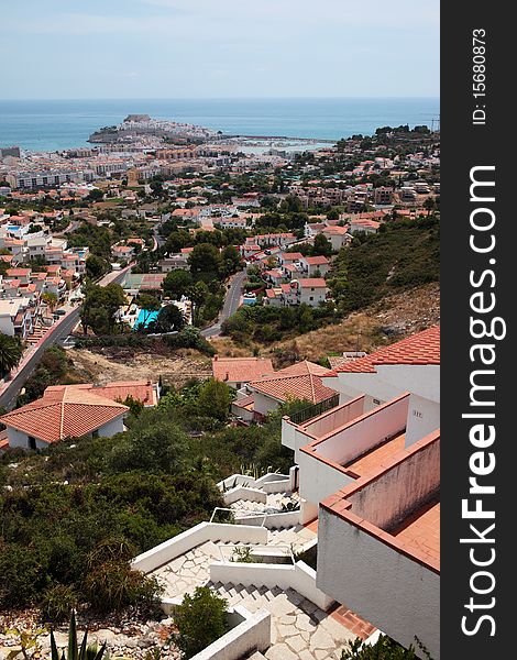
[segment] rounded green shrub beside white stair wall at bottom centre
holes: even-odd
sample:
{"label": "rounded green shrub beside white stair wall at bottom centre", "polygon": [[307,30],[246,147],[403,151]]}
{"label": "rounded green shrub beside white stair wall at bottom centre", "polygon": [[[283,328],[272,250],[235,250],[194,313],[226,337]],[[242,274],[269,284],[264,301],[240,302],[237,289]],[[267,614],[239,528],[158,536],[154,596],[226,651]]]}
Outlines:
{"label": "rounded green shrub beside white stair wall at bottom centre", "polygon": [[178,629],[174,642],[185,659],[202,651],[228,631],[227,612],[227,601],[208,586],[196,587],[194,595],[185,594],[174,610]]}

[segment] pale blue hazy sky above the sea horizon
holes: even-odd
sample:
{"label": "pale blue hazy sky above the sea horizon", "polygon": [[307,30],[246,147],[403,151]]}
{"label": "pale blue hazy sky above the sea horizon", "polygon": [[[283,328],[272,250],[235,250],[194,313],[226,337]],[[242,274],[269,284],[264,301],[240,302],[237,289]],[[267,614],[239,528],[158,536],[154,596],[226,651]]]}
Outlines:
{"label": "pale blue hazy sky above the sea horizon", "polygon": [[1,4],[3,99],[439,96],[439,0]]}

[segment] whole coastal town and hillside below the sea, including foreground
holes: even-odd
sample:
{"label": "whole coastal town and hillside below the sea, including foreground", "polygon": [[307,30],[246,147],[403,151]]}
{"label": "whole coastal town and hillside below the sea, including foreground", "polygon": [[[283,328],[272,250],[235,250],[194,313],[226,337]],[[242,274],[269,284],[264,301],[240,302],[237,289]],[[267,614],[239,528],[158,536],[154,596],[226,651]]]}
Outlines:
{"label": "whole coastal town and hillside below the sea, including foreground", "polygon": [[439,222],[427,125],[0,147],[0,658],[438,660]]}

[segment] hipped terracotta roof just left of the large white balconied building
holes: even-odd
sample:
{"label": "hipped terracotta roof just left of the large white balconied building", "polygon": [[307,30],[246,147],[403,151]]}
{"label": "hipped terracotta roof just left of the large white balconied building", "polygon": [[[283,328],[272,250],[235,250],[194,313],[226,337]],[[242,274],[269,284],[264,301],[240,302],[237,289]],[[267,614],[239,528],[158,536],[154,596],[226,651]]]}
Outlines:
{"label": "hipped terracotta roof just left of the large white balconied building", "polygon": [[336,391],[323,385],[319,377],[326,372],[324,367],[306,360],[260,381],[253,381],[250,386],[280,402],[297,398],[318,404],[336,394]]}

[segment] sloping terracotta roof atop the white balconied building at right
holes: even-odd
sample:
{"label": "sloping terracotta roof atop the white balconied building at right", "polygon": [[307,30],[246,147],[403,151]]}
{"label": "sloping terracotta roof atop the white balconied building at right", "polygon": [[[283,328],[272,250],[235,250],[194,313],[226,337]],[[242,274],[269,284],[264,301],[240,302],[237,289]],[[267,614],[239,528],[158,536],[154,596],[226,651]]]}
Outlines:
{"label": "sloping terracotta roof atop the white balconied building at right", "polygon": [[336,373],[375,373],[378,364],[440,364],[440,327],[433,326],[381,350],[338,366]]}

